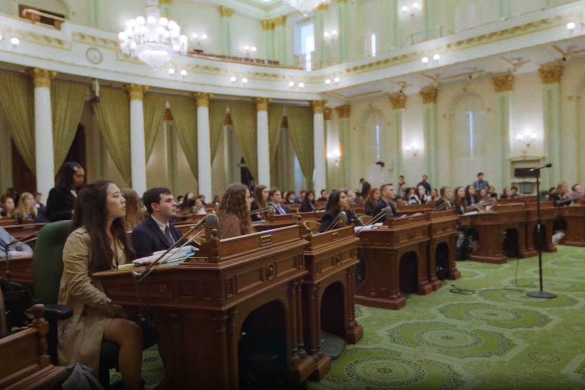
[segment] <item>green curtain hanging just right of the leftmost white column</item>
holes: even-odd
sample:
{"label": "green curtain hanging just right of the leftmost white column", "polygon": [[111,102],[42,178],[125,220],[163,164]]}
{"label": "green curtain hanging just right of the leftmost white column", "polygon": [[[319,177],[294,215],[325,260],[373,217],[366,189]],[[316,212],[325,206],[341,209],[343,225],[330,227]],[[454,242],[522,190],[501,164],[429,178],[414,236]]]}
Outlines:
{"label": "green curtain hanging just right of the leftmost white column", "polygon": [[56,172],[65,161],[77,133],[87,92],[87,84],[66,80],[54,80],[51,83],[53,157]]}

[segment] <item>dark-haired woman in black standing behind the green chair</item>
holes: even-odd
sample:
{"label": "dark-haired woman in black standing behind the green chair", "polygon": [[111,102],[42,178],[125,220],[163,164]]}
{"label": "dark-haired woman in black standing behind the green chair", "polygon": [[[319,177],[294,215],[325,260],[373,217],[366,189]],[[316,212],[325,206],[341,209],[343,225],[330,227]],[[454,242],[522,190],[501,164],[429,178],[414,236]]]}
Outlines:
{"label": "dark-haired woman in black standing behind the green chair", "polygon": [[46,216],[50,222],[73,218],[77,191],[85,180],[85,171],[78,163],[68,162],[61,168],[61,181],[51,188],[47,198]]}

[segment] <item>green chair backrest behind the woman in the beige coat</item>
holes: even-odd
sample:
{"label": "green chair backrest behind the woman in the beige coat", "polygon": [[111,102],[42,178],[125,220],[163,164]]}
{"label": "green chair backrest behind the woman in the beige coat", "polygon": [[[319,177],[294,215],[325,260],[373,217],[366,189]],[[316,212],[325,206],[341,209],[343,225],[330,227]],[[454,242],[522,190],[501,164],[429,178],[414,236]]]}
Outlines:
{"label": "green chair backrest behind the woman in the beige coat", "polygon": [[44,305],[55,305],[63,274],[63,247],[71,230],[71,221],[49,223],[39,231],[33,253],[35,295]]}

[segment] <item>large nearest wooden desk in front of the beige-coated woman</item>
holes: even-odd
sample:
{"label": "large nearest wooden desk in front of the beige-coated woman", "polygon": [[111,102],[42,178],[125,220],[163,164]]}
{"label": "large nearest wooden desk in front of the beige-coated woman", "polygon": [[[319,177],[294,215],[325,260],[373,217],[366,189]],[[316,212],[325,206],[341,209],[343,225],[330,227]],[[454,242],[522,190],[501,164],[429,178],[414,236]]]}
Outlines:
{"label": "large nearest wooden desk in front of the beige-coated woman", "polygon": [[[315,371],[304,350],[301,290],[308,241],[301,226],[202,244],[196,257],[166,264],[139,284],[159,333],[165,377],[159,389],[238,389],[249,370],[289,386]],[[114,302],[136,306],[132,270],[98,272]],[[259,360],[268,343],[278,356]],[[264,355],[262,355],[264,357]],[[255,364],[255,365],[254,365]]]}

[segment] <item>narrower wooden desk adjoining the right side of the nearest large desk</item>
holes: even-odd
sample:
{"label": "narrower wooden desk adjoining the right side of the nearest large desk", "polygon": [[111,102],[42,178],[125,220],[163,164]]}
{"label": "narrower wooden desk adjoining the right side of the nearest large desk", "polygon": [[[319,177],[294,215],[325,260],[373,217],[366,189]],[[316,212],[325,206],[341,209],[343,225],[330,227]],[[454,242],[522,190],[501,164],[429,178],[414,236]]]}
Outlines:
{"label": "narrower wooden desk adjoining the right side of the nearest large desk", "polygon": [[363,337],[354,303],[357,239],[353,225],[312,235],[306,233],[305,276],[302,291],[305,346],[316,361],[309,377],[321,381],[331,369],[331,358],[321,351],[321,330],[355,344]]}

